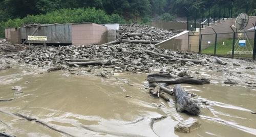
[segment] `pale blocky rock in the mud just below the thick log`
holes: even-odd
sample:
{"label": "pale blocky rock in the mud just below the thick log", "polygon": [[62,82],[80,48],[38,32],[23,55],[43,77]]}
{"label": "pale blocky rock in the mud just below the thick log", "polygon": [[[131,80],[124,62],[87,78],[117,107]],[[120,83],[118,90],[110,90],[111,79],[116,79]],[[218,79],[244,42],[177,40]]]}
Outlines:
{"label": "pale blocky rock in the mud just below the thick log", "polygon": [[201,123],[197,119],[189,118],[185,121],[178,123],[175,126],[175,131],[189,133],[191,131],[198,129],[200,126],[201,126]]}

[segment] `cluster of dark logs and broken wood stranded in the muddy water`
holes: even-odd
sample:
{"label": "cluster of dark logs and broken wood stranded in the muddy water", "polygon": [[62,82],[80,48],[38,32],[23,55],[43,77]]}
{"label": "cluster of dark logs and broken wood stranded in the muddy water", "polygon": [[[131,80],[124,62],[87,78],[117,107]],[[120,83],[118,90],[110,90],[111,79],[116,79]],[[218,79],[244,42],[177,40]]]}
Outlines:
{"label": "cluster of dark logs and broken wood stranded in the muddy water", "polygon": [[[174,95],[176,99],[177,112],[187,112],[191,115],[200,114],[200,106],[193,99],[191,99],[191,97],[180,84],[203,85],[210,83],[210,80],[208,79],[197,79],[193,77],[173,77],[168,73],[148,75],[147,81],[149,82],[150,87],[155,87],[155,89],[147,88],[150,89],[150,93],[152,95],[161,97],[166,101],[169,101],[170,96]],[[162,86],[161,83],[164,83],[165,85],[176,85],[172,91]]]}

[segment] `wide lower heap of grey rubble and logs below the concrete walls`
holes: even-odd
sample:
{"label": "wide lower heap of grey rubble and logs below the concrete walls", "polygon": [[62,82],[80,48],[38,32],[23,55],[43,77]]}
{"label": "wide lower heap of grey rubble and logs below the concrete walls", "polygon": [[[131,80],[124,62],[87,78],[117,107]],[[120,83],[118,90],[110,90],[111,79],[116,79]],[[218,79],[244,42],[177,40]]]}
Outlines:
{"label": "wide lower heap of grey rubble and logs below the concrete walls", "polygon": [[[103,67],[119,72],[143,71],[151,67],[174,64],[186,69],[188,66],[206,63],[208,56],[159,49],[152,44],[115,44],[108,46],[44,46],[4,55],[20,63],[44,66]],[[180,69],[180,70],[184,70]]]}

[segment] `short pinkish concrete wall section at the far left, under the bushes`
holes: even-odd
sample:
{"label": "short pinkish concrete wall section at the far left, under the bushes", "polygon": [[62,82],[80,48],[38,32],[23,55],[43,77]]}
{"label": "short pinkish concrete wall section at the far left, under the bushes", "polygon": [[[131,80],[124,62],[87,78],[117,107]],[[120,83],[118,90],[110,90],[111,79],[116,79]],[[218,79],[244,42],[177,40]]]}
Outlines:
{"label": "short pinkish concrete wall section at the far left, under the bushes", "polygon": [[6,28],[5,29],[5,38],[7,41],[18,44],[20,43],[20,30],[17,28]]}

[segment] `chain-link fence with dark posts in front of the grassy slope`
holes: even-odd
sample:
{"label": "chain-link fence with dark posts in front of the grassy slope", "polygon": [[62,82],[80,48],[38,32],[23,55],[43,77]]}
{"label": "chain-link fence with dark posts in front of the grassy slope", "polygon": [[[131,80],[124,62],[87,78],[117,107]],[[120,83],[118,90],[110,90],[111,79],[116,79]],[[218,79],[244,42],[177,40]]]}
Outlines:
{"label": "chain-link fence with dark posts in front of the grassy slope", "polygon": [[[198,52],[200,53],[228,58],[253,58],[254,31],[190,35],[189,40],[196,40],[196,37],[199,39],[196,44],[199,44]],[[195,45],[190,44],[190,49],[195,48]]]}

